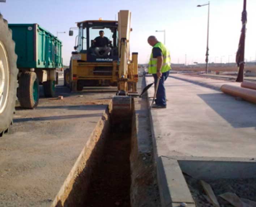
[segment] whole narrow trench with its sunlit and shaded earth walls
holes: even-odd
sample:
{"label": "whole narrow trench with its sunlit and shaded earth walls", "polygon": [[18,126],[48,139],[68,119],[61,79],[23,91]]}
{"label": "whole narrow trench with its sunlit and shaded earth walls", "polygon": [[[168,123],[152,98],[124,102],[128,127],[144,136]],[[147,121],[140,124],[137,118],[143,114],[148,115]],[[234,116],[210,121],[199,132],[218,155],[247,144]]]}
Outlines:
{"label": "whole narrow trench with its sunlit and shaded earth walls", "polygon": [[160,206],[152,147],[145,137],[143,148],[137,143],[148,124],[139,122],[137,132],[134,102],[123,114],[113,115],[112,105],[106,110],[51,207]]}

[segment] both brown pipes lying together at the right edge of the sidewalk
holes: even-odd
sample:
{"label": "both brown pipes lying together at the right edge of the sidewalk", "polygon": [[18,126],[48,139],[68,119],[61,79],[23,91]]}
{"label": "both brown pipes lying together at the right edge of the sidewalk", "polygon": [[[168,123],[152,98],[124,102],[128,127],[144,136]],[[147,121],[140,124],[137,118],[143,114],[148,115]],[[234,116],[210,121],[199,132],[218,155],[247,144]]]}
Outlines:
{"label": "both brown pipes lying together at the right edge of the sidewalk", "polygon": [[221,91],[232,96],[240,97],[248,102],[256,103],[256,83],[244,81],[241,87],[224,84]]}

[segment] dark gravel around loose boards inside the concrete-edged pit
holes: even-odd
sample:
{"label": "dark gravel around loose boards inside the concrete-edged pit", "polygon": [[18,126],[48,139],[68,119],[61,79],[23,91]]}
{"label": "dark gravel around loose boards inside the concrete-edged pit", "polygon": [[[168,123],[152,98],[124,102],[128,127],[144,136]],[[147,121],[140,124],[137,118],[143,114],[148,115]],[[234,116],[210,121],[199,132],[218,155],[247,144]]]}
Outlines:
{"label": "dark gravel around loose boards inside the concrete-edged pit", "polygon": [[[197,207],[214,207],[206,199],[206,193],[202,188],[199,180],[193,179],[190,176],[184,175],[191,195]],[[222,199],[219,195],[222,193],[235,193],[239,198],[246,198],[251,201],[256,201],[256,179],[218,179],[205,180],[213,189],[221,207],[234,207],[229,202]]]}

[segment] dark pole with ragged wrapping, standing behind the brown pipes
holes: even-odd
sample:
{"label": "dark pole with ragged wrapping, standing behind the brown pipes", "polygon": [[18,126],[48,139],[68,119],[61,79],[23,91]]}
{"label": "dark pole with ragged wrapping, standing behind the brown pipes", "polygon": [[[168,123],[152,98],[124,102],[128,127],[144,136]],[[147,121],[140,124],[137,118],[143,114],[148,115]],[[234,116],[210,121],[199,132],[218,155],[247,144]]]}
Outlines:
{"label": "dark pole with ragged wrapping, standing behind the brown pipes", "polygon": [[244,0],[243,12],[242,12],[242,31],[238,50],[236,53],[236,64],[239,67],[238,76],[236,82],[243,82],[244,79],[244,47],[245,47],[245,36],[246,36],[246,23],[247,23],[247,12],[246,12],[246,0]]}

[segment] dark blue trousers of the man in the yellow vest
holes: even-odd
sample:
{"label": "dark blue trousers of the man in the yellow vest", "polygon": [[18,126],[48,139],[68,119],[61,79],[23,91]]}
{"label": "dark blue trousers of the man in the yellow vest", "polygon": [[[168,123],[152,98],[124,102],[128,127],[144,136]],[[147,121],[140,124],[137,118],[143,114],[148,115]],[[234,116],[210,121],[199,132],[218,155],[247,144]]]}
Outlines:
{"label": "dark blue trousers of the man in the yellow vest", "polygon": [[[169,75],[169,71],[162,73],[162,77],[159,80],[157,98],[155,99],[155,104],[157,105],[166,105],[166,96],[165,96],[165,81]],[[154,84],[157,84],[157,74],[153,74]]]}

